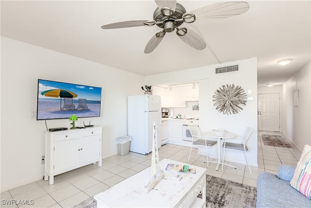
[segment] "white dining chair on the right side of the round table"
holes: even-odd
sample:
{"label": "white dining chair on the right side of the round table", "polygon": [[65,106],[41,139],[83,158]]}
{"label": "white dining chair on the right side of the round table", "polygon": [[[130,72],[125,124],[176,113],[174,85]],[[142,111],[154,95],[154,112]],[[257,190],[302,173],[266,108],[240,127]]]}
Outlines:
{"label": "white dining chair on the right side of the round table", "polygon": [[[247,160],[247,155],[246,155],[246,151],[248,151],[248,147],[246,146],[246,141],[249,138],[249,136],[252,133],[252,129],[247,127],[245,132],[243,133],[242,136],[238,136],[236,138],[241,138],[240,140],[237,139],[227,139],[225,140],[225,142],[223,143],[223,148],[224,148],[224,153],[223,153],[223,164],[222,164],[222,170],[224,169],[224,158],[225,158],[225,150],[235,150],[235,151],[244,151],[244,155],[245,155],[245,159],[246,159],[246,164],[249,168],[249,172],[252,174],[251,171],[251,167],[249,166],[248,160]],[[228,165],[227,166],[231,166],[233,168],[237,168],[235,166],[232,165]]]}

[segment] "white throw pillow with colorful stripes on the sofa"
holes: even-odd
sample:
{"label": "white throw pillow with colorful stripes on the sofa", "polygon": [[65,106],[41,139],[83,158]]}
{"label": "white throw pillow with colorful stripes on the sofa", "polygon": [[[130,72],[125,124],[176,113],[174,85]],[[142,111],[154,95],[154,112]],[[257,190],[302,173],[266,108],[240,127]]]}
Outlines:
{"label": "white throw pillow with colorful stripes on the sofa", "polygon": [[311,146],[305,145],[295,169],[291,186],[311,199]]}

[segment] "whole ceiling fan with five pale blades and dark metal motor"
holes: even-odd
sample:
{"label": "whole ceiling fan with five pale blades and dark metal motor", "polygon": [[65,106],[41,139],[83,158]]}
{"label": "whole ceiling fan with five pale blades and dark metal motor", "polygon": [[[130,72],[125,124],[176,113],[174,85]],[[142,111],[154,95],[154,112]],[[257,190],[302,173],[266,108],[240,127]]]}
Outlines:
{"label": "whole ceiling fan with five pale blades and dark metal motor", "polygon": [[206,43],[203,38],[189,28],[181,26],[183,23],[192,23],[198,20],[224,19],[241,15],[249,9],[249,5],[244,1],[231,1],[215,3],[186,12],[186,9],[176,0],[155,0],[157,8],[154,12],[154,20],[129,20],[105,24],[103,29],[116,29],[138,26],[158,26],[162,30],[148,41],[144,53],[149,54],[160,44],[166,33],[171,33],[176,29],[176,34],[189,46],[203,50]]}

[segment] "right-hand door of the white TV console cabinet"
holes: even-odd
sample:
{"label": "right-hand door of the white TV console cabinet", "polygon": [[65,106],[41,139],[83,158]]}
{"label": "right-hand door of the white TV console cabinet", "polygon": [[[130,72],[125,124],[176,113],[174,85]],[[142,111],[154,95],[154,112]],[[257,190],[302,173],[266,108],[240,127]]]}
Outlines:
{"label": "right-hand door of the white TV console cabinet", "polygon": [[81,165],[96,161],[100,157],[100,138],[88,137],[81,139]]}

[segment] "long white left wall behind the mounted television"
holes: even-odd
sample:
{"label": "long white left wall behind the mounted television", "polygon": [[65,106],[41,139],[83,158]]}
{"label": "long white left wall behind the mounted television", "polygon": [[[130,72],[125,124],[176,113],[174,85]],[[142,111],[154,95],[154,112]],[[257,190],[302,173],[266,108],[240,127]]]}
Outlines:
{"label": "long white left wall behind the mounted television", "polygon": [[[104,55],[103,55],[104,56]],[[83,121],[103,129],[103,158],[117,154],[115,138],[127,135],[127,95],[142,94],[144,77],[123,70],[1,37],[1,192],[44,174],[44,120],[36,111],[37,79],[102,87],[101,116]],[[70,127],[67,119],[47,120],[48,128]]]}

